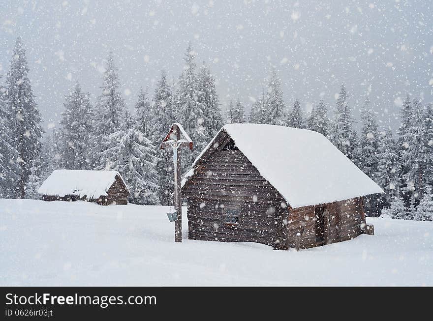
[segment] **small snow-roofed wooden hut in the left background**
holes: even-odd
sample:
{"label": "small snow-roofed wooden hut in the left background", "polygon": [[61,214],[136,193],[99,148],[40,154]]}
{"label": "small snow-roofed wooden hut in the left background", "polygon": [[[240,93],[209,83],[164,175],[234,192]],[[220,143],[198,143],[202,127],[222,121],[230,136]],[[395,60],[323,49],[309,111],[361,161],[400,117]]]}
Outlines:
{"label": "small snow-roofed wooden hut in the left background", "polygon": [[128,204],[129,190],[116,171],[56,170],[38,189],[44,201]]}

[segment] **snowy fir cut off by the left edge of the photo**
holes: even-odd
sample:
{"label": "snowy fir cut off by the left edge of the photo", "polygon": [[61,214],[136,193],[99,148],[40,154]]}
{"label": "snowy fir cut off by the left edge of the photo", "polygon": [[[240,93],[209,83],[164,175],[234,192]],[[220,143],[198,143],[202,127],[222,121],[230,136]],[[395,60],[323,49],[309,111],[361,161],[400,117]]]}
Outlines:
{"label": "snowy fir cut off by the left edge of the photo", "polygon": [[6,88],[0,86],[0,198],[16,195],[19,168],[16,160],[18,151],[14,147],[14,116],[10,113]]}

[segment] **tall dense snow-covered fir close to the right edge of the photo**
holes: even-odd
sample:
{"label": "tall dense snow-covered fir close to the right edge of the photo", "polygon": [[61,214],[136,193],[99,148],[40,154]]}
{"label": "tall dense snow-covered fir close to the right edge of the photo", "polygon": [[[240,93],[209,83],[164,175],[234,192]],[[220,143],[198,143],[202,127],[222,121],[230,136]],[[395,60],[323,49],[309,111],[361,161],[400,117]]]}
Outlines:
{"label": "tall dense snow-covered fir close to the right edge of the photo", "polygon": [[[425,129],[425,108],[418,99],[412,103],[412,114],[409,116],[410,127],[406,131],[404,141],[404,155],[401,160],[405,169],[403,179],[405,186],[403,192],[408,196],[420,199],[423,195],[423,186],[431,177],[426,176],[427,172],[427,137]],[[407,144],[407,146],[406,146]]]}

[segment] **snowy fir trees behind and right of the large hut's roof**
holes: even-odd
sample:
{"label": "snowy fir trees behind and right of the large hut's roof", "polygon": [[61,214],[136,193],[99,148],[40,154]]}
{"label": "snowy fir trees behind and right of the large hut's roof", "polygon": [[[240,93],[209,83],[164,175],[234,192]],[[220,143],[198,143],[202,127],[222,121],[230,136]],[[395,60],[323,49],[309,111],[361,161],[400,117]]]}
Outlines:
{"label": "snowy fir trees behind and right of the large hut's roof", "polygon": [[[354,108],[347,99],[347,90],[341,85],[333,117],[328,116],[329,108],[323,100],[306,116],[298,100],[287,111],[278,75],[273,71],[268,90],[263,90],[261,98],[251,107],[248,122],[309,129],[327,137],[384,190],[383,195],[366,197],[368,215],[383,213],[397,219],[432,221],[433,104],[423,105],[420,99],[407,95],[394,139],[391,128],[379,129],[368,96],[360,107],[358,133],[352,117]],[[233,123],[246,121],[239,100],[236,104],[229,103],[228,119]]]}

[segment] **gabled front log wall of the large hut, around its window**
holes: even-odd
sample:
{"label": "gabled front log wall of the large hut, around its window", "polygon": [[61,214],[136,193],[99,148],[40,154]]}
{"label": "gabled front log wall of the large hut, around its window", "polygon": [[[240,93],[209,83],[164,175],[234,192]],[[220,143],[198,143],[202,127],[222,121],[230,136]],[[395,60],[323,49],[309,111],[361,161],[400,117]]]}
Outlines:
{"label": "gabled front log wall of the large hut, around its window", "polygon": [[[284,200],[238,149],[213,153],[196,169],[183,195],[188,205],[188,238],[286,247]],[[242,207],[239,225],[222,221],[221,206],[230,205]]]}

